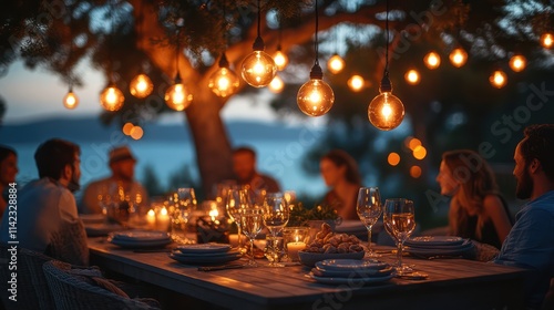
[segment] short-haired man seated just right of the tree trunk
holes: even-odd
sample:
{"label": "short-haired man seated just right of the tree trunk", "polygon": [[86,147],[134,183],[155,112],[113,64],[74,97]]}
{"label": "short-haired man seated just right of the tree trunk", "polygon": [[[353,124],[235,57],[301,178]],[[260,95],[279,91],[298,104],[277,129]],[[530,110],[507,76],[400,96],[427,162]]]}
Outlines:
{"label": "short-haired man seated just right of the tree trunk", "polygon": [[233,151],[233,172],[239,185],[249,185],[255,192],[260,189],[265,189],[267,193],[280,192],[277,180],[258,173],[256,152],[249,147],[238,147]]}

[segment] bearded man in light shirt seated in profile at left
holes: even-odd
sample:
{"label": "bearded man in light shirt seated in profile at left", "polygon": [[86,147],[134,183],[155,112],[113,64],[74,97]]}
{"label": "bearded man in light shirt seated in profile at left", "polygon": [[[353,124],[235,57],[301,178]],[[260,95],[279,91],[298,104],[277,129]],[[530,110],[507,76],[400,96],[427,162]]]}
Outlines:
{"label": "bearded man in light shirt seated in profile at left", "polygon": [[0,241],[17,240],[21,248],[86,266],[86,232],[72,194],[79,189],[81,177],[80,148],[71,142],[49,140],[39,146],[34,161],[40,179],[30,182],[18,193],[17,223],[6,209]]}

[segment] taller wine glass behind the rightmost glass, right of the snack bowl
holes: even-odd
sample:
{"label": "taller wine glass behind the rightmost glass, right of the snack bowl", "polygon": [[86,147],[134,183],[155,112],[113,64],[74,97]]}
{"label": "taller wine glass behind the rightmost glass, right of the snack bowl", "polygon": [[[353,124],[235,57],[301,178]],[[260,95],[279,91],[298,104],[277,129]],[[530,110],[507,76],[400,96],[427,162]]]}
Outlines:
{"label": "taller wine glass behind the rightmost glass, right of the snack bowl", "polygon": [[368,229],[368,251],[366,257],[380,257],[380,255],[371,250],[371,228],[382,214],[381,195],[378,187],[360,187],[356,211]]}

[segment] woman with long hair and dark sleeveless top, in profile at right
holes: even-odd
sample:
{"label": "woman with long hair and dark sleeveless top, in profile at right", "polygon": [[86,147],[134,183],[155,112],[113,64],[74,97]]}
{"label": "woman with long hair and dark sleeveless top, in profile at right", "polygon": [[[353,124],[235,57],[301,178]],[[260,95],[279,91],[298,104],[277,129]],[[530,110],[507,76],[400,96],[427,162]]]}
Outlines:
{"label": "woman with long hair and dark sleeveless top, in profile at right", "polygon": [[502,247],[513,220],[490,165],[475,152],[445,152],[437,176],[441,194],[452,196],[450,235]]}

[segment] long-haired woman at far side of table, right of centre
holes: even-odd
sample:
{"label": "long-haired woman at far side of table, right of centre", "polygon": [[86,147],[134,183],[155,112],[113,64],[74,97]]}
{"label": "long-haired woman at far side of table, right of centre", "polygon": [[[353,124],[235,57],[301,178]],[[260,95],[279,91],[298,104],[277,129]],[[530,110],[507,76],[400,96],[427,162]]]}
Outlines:
{"label": "long-haired woman at far side of table, right of centre", "polygon": [[342,219],[359,219],[356,213],[361,177],[356,161],[341,149],[332,149],[319,162],[321,176],[331,187],[324,204],[332,206]]}

